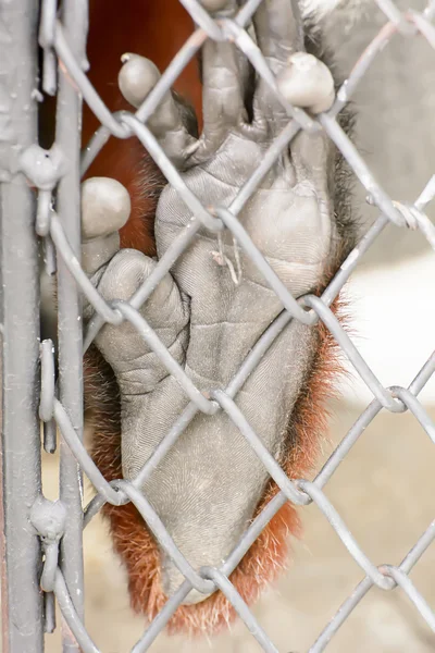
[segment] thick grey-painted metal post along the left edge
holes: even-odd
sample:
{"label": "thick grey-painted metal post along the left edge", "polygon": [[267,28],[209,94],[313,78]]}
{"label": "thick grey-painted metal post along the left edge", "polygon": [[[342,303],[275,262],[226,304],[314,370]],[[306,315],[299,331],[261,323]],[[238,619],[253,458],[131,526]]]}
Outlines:
{"label": "thick grey-painted metal post along the left edge", "polygon": [[34,194],[18,172],[37,133],[37,0],[0,1],[3,653],[44,650],[40,545],[29,521],[41,489],[38,252]]}

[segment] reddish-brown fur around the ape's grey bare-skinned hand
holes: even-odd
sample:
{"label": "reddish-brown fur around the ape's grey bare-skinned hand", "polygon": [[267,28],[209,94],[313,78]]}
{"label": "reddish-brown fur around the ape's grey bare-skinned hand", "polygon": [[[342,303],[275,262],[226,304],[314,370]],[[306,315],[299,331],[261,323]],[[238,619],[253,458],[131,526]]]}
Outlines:
{"label": "reddish-brown fur around the ape's grey bare-skinned hand", "polygon": [[[92,64],[90,78],[113,109],[123,107],[115,84],[122,52],[133,51],[150,57],[162,69],[191,32],[189,16],[174,0],[159,0],[159,3],[132,0],[132,3],[134,7],[129,7],[128,11],[120,11],[117,3],[91,1],[88,46]],[[174,12],[178,13],[175,15]],[[111,29],[111,26],[115,28]],[[167,35],[167,38],[162,40],[162,34]],[[101,47],[103,35],[110,35],[109,49]],[[200,84],[195,63],[186,70],[176,90],[190,100],[199,115]],[[85,141],[97,126],[90,112],[85,112]],[[112,139],[92,164],[88,176],[112,176],[127,187],[133,210],[130,220],[121,232],[122,247],[134,247],[153,255],[153,215],[158,199],[156,189],[161,188],[162,181],[154,167],[149,165],[144,158],[144,149],[135,139]],[[144,170],[149,174],[145,175]],[[339,315],[338,301],[334,308]],[[291,415],[286,455],[282,460],[290,478],[306,477],[312,468],[319,442],[326,432],[325,402],[334,393],[333,382],[340,373],[335,341],[322,324],[318,326],[316,335],[319,346]],[[103,476],[111,481],[122,477],[120,397],[113,372],[96,349],[85,360],[85,383],[88,418],[95,429],[94,459]],[[277,490],[274,482],[269,484],[257,513]],[[156,542],[133,505],[105,505],[103,514],[110,521],[114,549],[128,572],[132,606],[151,619],[166,600],[160,586]],[[295,507],[286,503],[231,577],[247,603],[254,602],[264,586],[286,566],[289,533],[298,535],[300,523]],[[179,607],[171,619],[169,629],[189,634],[213,633],[235,616],[235,611],[225,596],[216,592],[202,603]]]}

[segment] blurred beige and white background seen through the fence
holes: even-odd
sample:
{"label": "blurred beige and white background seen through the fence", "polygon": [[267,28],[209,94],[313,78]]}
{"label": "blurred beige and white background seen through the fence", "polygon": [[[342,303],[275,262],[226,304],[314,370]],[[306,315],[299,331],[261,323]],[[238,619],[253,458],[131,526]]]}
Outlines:
{"label": "blurred beige and white background seen through the fence", "polygon": [[[343,4],[343,3],[341,3]],[[346,75],[385,23],[374,2],[353,0],[326,20],[327,42]],[[399,0],[405,10],[423,2]],[[120,51],[120,54],[122,51]],[[92,60],[91,60],[92,61]],[[372,172],[397,200],[413,201],[435,174],[435,52],[423,38],[396,36],[375,60],[353,97],[357,145]],[[376,218],[356,185],[362,231]],[[427,213],[434,218],[434,207]],[[384,385],[407,386],[434,348],[435,255],[419,232],[387,227],[352,275],[347,295],[352,340]],[[352,373],[333,403],[323,459],[347,433],[372,396]],[[435,381],[421,397],[435,419]],[[322,460],[319,461],[319,468]],[[398,564],[434,519],[435,449],[412,415],[381,412],[340,465],[326,494],[375,564]],[[45,489],[57,495],[57,459],[45,457]],[[88,496],[90,490],[88,489]],[[283,653],[304,653],[363,578],[315,506],[302,509],[304,537],[291,542],[288,574],[254,613]],[[97,517],[85,532],[86,626],[104,653],[129,651],[145,623],[128,607],[123,569]],[[435,608],[435,547],[411,579]],[[156,653],[178,650],[254,653],[260,648],[236,624],[215,639],[189,642],[161,636]],[[61,650],[59,632],[47,651]],[[330,653],[428,653],[435,634],[398,589],[372,590],[333,639]]]}

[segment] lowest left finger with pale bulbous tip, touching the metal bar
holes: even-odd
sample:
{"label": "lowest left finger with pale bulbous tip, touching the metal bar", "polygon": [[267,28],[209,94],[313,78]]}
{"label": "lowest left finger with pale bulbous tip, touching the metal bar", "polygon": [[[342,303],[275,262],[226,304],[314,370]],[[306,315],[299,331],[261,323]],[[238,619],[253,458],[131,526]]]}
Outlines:
{"label": "lowest left finger with pale bulbous tip, touching the metal bar", "polygon": [[82,264],[92,275],[120,249],[119,230],[130,213],[127,189],[109,177],[82,184]]}

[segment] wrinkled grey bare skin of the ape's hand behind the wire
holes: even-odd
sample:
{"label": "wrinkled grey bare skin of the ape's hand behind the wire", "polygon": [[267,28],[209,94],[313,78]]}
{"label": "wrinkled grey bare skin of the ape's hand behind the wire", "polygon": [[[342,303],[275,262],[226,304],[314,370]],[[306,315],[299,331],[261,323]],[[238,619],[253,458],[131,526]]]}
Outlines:
{"label": "wrinkled grey bare skin of the ape's hand behind the wire", "polygon": [[[287,0],[266,1],[257,12],[257,41],[275,74],[285,69],[289,54],[302,49],[297,25]],[[247,66],[232,45],[208,42],[202,69],[204,126],[200,138],[187,132],[171,98],[166,98],[164,110],[154,114],[150,127],[201,202],[227,207],[288,118],[262,82],[257,83],[252,106],[246,110]],[[250,122],[248,115],[252,116]],[[332,161],[332,148],[324,135],[298,135],[238,215],[296,298],[314,291],[336,258]],[[85,222],[91,217],[92,211],[84,211]],[[156,215],[158,258],[190,220],[177,192],[167,185]],[[103,221],[100,232],[98,223],[92,229],[84,224],[85,234],[92,236],[84,243],[84,264],[107,300],[128,299],[156,266],[156,260],[139,251],[117,251],[116,229],[121,226],[122,219],[108,234]],[[239,280],[234,279],[228,264],[220,264],[223,261],[216,255],[216,234],[201,229],[140,309],[203,392],[228,384],[259,337],[283,311],[261,273],[234,245],[231,233],[225,231],[222,238],[225,257],[236,272],[240,267]],[[235,399],[277,459],[315,344],[312,329],[293,321]],[[105,325],[96,345],[120,386],[123,475],[134,479],[189,399],[129,323]],[[227,415],[220,411],[194,418],[144,492],[182,553],[198,569],[225,559],[249,525],[268,480],[263,464]],[[184,578],[163,552],[161,558],[163,590],[171,594]],[[202,599],[202,594],[191,591],[186,603]]]}

